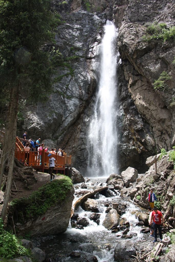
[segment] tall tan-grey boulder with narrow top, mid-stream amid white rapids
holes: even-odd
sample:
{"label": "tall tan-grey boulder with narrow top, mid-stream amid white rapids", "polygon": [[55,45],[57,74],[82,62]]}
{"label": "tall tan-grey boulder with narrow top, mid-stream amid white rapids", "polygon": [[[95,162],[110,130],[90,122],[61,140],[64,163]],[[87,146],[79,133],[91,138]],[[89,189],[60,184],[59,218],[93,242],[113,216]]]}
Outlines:
{"label": "tall tan-grey boulder with narrow top, mid-stream amid white rapids", "polygon": [[117,227],[119,225],[119,219],[120,219],[120,215],[117,213],[115,209],[112,208],[106,214],[106,217],[103,221],[103,226],[107,228],[107,230],[110,230],[115,226]]}

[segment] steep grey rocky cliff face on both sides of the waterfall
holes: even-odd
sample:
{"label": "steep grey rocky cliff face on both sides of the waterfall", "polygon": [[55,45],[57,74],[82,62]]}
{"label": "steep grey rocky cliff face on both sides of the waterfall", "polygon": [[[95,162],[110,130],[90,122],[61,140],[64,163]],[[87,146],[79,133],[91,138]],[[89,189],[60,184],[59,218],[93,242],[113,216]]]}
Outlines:
{"label": "steep grey rocky cliff face on both sides of the waterfall", "polygon": [[[72,155],[72,166],[85,175],[103,25],[107,19],[113,19],[119,27],[121,58],[117,69],[118,165],[120,170],[128,166],[144,169],[146,158],[154,155],[155,150],[171,149],[175,143],[172,105],[175,47],[173,43],[146,43],[142,39],[148,23],[174,24],[173,1],[91,0],[87,3],[73,0],[64,6],[54,1],[53,8],[61,12],[65,21],[58,27],[56,46],[64,59],[69,59],[70,67],[56,68],[54,77],[62,77],[54,84],[54,94],[46,104],[39,103],[25,115],[23,128],[29,136],[45,139],[49,146],[64,148]],[[72,60],[73,56],[78,58]],[[152,83],[163,70],[172,76],[169,90],[155,91]]]}

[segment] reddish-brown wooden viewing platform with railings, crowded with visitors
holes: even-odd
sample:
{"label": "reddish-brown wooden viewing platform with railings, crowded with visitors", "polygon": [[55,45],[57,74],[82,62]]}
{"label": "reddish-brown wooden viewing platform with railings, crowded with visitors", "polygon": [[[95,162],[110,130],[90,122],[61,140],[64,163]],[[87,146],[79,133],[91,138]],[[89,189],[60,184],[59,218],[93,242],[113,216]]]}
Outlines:
{"label": "reddish-brown wooden viewing platform with railings, crowded with visitors", "polygon": [[[3,143],[4,132],[0,130],[0,141]],[[15,147],[15,158],[17,158],[20,162],[24,163],[26,166],[32,166],[34,169],[40,169],[42,172],[49,170],[49,157],[50,153],[46,152],[44,149],[42,151],[23,151],[24,146],[20,140],[24,140],[22,138],[16,137],[16,147]],[[28,140],[24,140],[27,141]],[[40,165],[40,156],[41,152],[41,165]],[[63,156],[58,156],[57,154],[52,154],[57,161],[54,170],[58,173],[65,174],[65,167],[67,167],[67,175],[68,168],[71,166],[71,155],[67,156],[64,154]]]}

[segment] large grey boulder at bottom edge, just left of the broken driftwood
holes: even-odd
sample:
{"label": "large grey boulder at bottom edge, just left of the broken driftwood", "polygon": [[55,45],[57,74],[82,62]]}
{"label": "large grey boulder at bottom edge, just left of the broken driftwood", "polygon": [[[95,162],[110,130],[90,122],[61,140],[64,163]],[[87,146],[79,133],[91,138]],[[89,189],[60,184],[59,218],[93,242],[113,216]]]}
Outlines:
{"label": "large grey boulder at bottom edge, just left of the broken driftwood", "polygon": [[130,240],[119,240],[114,249],[115,261],[126,261],[129,258],[132,258],[132,255],[136,256],[134,243],[132,243]]}

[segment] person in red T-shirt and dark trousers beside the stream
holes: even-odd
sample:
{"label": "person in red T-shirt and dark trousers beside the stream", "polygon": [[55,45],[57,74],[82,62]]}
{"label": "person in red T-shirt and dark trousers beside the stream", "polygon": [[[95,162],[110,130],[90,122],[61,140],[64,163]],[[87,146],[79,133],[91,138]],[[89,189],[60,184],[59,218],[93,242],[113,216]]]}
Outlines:
{"label": "person in red T-shirt and dark trousers beside the stream", "polygon": [[157,242],[157,229],[158,229],[158,232],[159,232],[160,241],[162,241],[162,227],[161,227],[161,225],[162,225],[162,222],[163,222],[163,226],[165,226],[165,223],[164,223],[164,218],[163,218],[162,213],[159,210],[157,210],[156,206],[153,208],[153,211],[152,211],[150,226],[151,226],[152,219],[154,219],[153,220],[153,226],[154,226],[154,241],[153,242]]}

